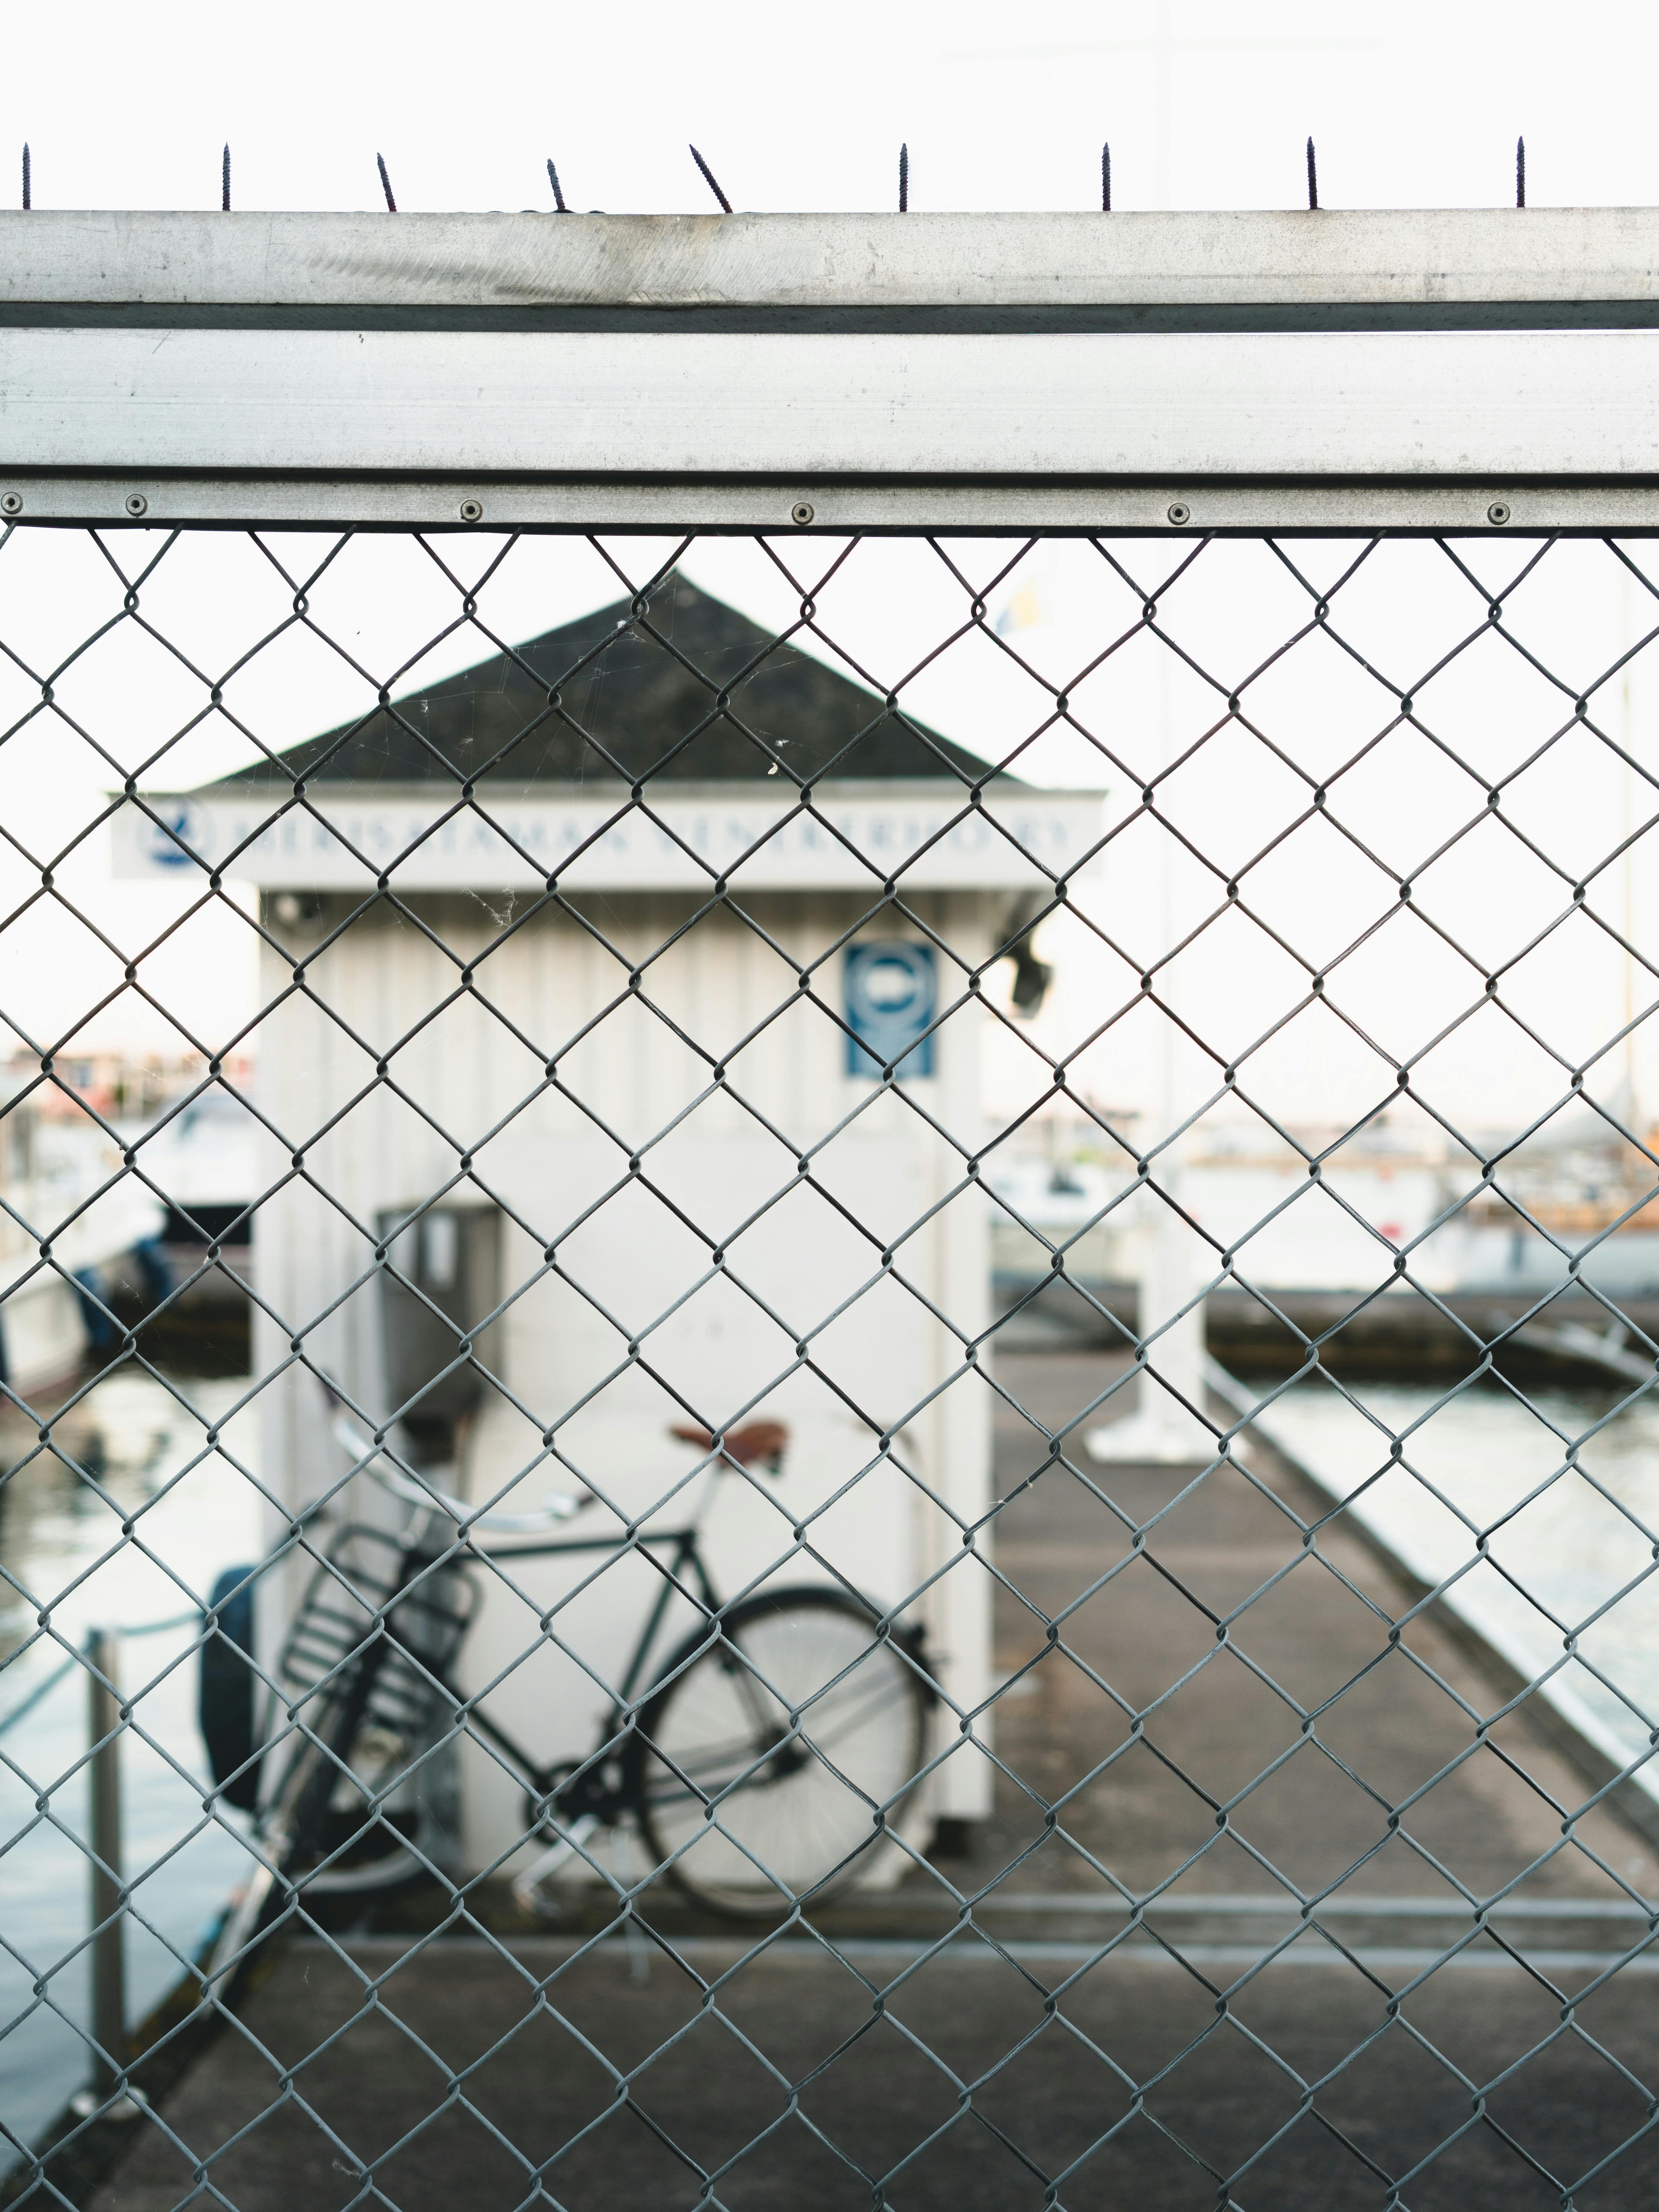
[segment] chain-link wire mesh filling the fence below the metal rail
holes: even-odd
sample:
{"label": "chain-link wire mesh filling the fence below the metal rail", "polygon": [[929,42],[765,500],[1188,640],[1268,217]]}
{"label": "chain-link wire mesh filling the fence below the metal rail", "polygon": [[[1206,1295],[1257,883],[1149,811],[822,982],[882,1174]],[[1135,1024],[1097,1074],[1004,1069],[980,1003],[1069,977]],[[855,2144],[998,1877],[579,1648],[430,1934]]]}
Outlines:
{"label": "chain-link wire mesh filling the fence below the metal rail", "polygon": [[11,2201],[1646,2201],[1655,593],[11,529]]}

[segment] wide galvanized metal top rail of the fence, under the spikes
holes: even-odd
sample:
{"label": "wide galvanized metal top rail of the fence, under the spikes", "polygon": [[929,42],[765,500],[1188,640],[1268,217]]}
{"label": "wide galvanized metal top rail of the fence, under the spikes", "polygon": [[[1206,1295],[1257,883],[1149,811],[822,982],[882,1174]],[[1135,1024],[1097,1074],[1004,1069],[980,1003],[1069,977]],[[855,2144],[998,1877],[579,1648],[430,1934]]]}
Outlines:
{"label": "wide galvanized metal top rail of the fence, under the spikes", "polygon": [[1657,239],[1650,210],[1522,208],[11,212],[0,502],[60,522],[1635,531],[1659,522]]}

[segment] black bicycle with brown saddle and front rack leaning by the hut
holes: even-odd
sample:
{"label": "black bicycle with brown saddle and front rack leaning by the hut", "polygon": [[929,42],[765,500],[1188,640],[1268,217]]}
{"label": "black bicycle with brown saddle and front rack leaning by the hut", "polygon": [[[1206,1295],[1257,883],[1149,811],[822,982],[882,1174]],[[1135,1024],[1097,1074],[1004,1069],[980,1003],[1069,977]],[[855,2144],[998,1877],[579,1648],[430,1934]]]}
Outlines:
{"label": "black bicycle with brown saddle and front rack leaning by the hut", "polygon": [[[684,1524],[551,1542],[522,1540],[586,1511],[593,1493],[549,1498],[533,1513],[473,1513],[392,1464],[343,1413],[334,1433],[411,1517],[400,1533],[345,1524],[294,1615],[276,1679],[294,1692],[285,1721],[296,1743],[257,1814],[261,1865],[226,1918],[215,1975],[234,1975],[288,1898],[387,1887],[422,1865],[414,1816],[396,1801],[462,1714],[524,1781],[526,1840],[544,1843],[513,1885],[526,1909],[553,1909],[546,1885],[602,1827],[630,1825],[684,1896],[737,1920],[821,1905],[858,1878],[927,1763],[938,1692],[922,1630],[883,1621],[832,1584],[732,1606],[719,1597],[699,1544],[714,1484],[757,1464],[776,1475],[787,1444],[779,1422],[726,1438],[670,1431],[710,1453]],[[478,1606],[467,1564],[482,1548],[476,1531],[518,1540],[487,1553],[502,1562],[622,1555],[633,1542],[661,1573],[584,1759],[540,1763],[456,1688]],[[697,1606],[699,1626],[641,1690],[677,1595]],[[215,1759],[232,1803],[234,1790],[250,1794],[259,1756],[230,1774]]]}

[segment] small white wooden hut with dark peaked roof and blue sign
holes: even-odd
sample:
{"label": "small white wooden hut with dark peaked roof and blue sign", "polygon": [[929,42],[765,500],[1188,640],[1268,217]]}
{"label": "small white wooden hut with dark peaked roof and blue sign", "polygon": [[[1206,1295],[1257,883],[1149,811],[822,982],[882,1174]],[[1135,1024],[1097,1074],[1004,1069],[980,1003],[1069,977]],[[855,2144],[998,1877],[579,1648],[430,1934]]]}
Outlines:
{"label": "small white wooden hut with dark peaked roof and blue sign", "polygon": [[[387,1418],[407,1378],[387,1371],[376,1239],[434,1201],[489,1217],[476,1245],[465,1223],[422,1232],[429,1279],[484,1254],[469,1325],[500,1307],[453,1449],[465,1495],[526,1509],[588,1482],[604,1504],[582,1533],[657,1500],[664,1524],[699,1462],[670,1425],[776,1418],[781,1475],[726,1478],[712,1509],[721,1595],[845,1575],[909,1604],[971,1710],[991,1577],[962,1528],[991,1495],[991,1394],[964,1358],[989,1321],[987,1201],[964,1170],[991,1015],[969,973],[1031,911],[1040,867],[1091,849],[1099,803],[1002,776],[971,807],[984,763],[823,664],[772,650],[739,681],[765,633],[681,577],[648,622],[672,650],[604,608],[161,803],[168,827],[128,810],[131,869],[177,834],[263,887],[259,1099],[301,1166],[257,1214],[254,1365],[299,1332]],[[995,973],[987,989],[1006,998]],[[931,1013],[883,1084],[852,1031],[898,1057]],[[272,1144],[272,1181],[283,1168]],[[394,1261],[414,1270],[411,1237]],[[436,1429],[403,1433],[447,1458]],[[270,1480],[301,1506],[345,1464],[290,1367],[265,1391]],[[491,1714],[544,1756],[586,1752],[653,1571],[630,1555],[595,1577],[584,1555],[484,1575],[467,1688],[493,1686]],[[918,1825],[989,1798],[962,1741]],[[495,1863],[522,1790],[471,1743],[460,1805],[462,1860]]]}

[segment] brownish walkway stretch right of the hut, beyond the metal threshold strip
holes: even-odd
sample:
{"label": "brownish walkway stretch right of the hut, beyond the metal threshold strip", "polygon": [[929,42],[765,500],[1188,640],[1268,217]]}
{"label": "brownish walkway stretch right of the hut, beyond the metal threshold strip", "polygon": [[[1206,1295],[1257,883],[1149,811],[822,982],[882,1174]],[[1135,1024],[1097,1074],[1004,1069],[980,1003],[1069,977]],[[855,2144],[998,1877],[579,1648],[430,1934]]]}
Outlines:
{"label": "brownish walkway stretch right of the hut, beyond the metal threshold strip", "polygon": [[[1099,1356],[1000,1365],[1006,1391],[1033,1416],[998,1413],[1004,1491],[1042,1462],[1042,1431],[1075,1420],[1108,1374]],[[1203,1849],[1181,1889],[1272,1889],[1276,1869],[1303,1891],[1343,1882],[1345,1896],[1451,1898],[1455,1878],[1493,1896],[1537,1867],[1524,1896],[1613,1898],[1610,1876],[1593,1863],[1597,1854],[1644,1896],[1659,1896],[1659,1860],[1613,1812],[1590,1814],[1577,1843],[1564,1845],[1562,1816],[1588,1790],[1526,1712],[1500,1723],[1486,1747],[1436,1781],[1469,1750],[1471,1712],[1495,1712],[1506,1692],[1433,1619],[1389,1644],[1389,1619],[1407,1610],[1398,1579],[1343,1524],[1321,1535],[1318,1557],[1305,1555],[1298,1522],[1274,1500],[1303,1522],[1329,1506],[1272,1453],[1250,1453],[1270,1495],[1243,1473],[1219,1469],[1159,1522],[1144,1557],[1082,1606],[1093,1582],[1133,1551],[1128,1531],[1088,1484],[1108,1491],[1130,1520],[1150,1522],[1188,1478],[1091,1467],[1075,1436],[1071,1458],[1088,1482],[1066,1469],[1046,1473],[998,1515],[998,1566],[1020,1593],[998,1606],[1000,1668],[1011,1674],[1042,1652],[1046,1619],[1062,1615],[1068,1652],[1042,1657],[1026,1677],[1031,1690],[998,1703],[998,1750],[1033,1798],[1004,1790],[1004,1812],[975,1871],[1006,1865],[1042,1834],[1035,1798],[1057,1801],[1128,1741],[1130,1721],[1099,1677],[1148,1719],[1141,1743],[1068,1803],[1064,1825],[1075,1845],[1139,1891],[1166,1882]],[[1256,1590],[1263,1595],[1219,1648],[1217,1621]],[[1303,1734],[1294,1705],[1312,1712],[1327,1699],[1336,1703],[1321,1712],[1314,1734]],[[1217,1834],[1217,1807],[1276,1759],[1283,1763],[1230,1814],[1228,1834]],[[1409,1798],[1391,1829],[1389,1807]],[[1051,1882],[1099,1887],[1099,1876],[1082,1849],[1055,1840],[1020,1869],[1020,1887]]]}

